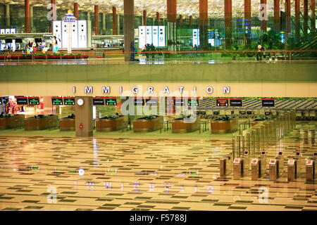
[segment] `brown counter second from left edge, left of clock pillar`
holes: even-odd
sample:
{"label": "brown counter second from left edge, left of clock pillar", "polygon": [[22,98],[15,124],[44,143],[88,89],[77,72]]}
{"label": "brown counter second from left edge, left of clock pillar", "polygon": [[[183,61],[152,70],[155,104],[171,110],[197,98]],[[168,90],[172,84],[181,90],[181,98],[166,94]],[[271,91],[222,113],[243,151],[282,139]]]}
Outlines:
{"label": "brown counter second from left edge, left of clock pillar", "polygon": [[58,126],[57,115],[39,115],[37,117],[29,117],[24,120],[26,131],[37,131],[42,129],[55,129]]}

